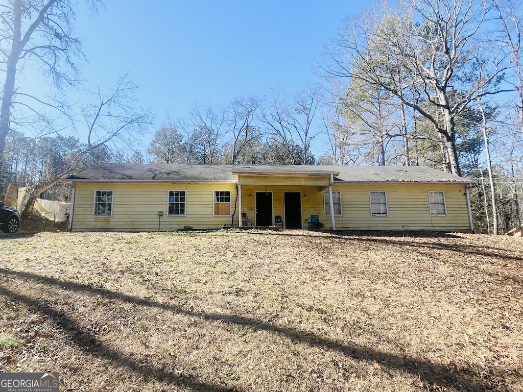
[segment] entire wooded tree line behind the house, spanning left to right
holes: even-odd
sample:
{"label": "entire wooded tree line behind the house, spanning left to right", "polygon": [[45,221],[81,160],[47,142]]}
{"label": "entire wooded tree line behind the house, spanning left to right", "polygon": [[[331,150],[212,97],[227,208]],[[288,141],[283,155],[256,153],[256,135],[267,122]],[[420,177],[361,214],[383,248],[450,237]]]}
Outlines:
{"label": "entire wooded tree line behind the house, spanning left to right", "polygon": [[[48,10],[60,5],[63,14],[46,14],[47,5]],[[30,29],[26,36],[16,33],[17,26],[28,26],[20,18],[44,15],[41,23],[49,24],[56,15],[69,15],[72,5],[41,0],[32,2],[33,13],[26,14],[24,7],[29,7],[26,2],[12,0],[9,13],[2,11],[5,31],[8,22],[15,31],[12,39],[0,41],[6,75],[2,107],[5,97],[10,108],[36,99],[21,95],[16,85],[11,96],[6,94],[14,54],[17,70],[47,39],[49,52],[38,59],[57,50],[67,54],[51,67],[55,78],[63,82],[67,74],[62,69],[75,70],[67,53],[71,45],[56,49],[51,30],[40,31],[42,42],[26,47],[27,52],[19,47],[32,44],[23,38]],[[321,85],[294,96],[274,90],[263,99],[236,98],[226,107],[195,105],[185,117],[167,116],[146,149],[132,141],[146,131],[151,115],[135,105],[134,87],[125,77],[112,93],[93,94],[94,103],[82,111],[86,125],[76,128],[88,135],[87,142],[58,130],[68,113],[65,102],[53,101],[49,112],[55,118],[30,117],[27,111],[17,117],[11,110],[0,116],[0,141],[5,140],[0,190],[15,183],[28,186],[35,197],[46,192],[42,196],[65,200],[68,191],[61,180],[66,175],[105,162],[425,165],[474,179],[476,228],[507,232],[521,225],[523,208],[522,8],[516,0],[373,5],[340,28],[319,61]],[[6,118],[8,132],[2,128]]]}

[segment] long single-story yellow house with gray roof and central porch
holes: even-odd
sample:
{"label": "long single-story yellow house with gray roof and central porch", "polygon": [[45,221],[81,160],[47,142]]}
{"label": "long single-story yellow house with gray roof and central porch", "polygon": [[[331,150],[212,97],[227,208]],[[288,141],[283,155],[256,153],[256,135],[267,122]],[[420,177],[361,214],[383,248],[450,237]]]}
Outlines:
{"label": "long single-story yellow house with gray roof and central porch", "polygon": [[[69,229],[472,231],[467,178],[420,166],[105,164],[70,176]],[[280,222],[281,221],[281,222]]]}

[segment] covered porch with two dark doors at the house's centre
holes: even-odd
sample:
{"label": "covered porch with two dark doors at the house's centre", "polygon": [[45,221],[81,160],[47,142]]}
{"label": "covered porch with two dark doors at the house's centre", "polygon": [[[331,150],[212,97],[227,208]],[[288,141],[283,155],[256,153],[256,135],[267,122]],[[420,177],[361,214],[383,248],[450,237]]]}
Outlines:
{"label": "covered porch with two dark doors at the house's centre", "polygon": [[[243,226],[306,228],[305,219],[319,215],[325,228],[336,229],[334,214],[325,216],[324,200],[333,205],[332,185],[339,172],[293,167],[233,169],[237,176],[238,210]],[[325,200],[325,201],[327,201]],[[279,221],[281,217],[281,223]]]}

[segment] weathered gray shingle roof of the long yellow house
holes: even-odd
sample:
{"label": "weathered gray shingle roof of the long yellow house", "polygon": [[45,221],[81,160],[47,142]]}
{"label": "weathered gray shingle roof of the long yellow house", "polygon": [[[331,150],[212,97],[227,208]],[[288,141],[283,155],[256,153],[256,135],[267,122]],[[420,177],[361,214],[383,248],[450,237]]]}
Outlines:
{"label": "weathered gray shingle roof of the long yellow house", "polygon": [[[233,174],[234,173],[234,174]],[[80,181],[235,181],[235,174],[335,176],[345,182],[472,182],[424,166],[266,166],[105,164],[85,169],[70,180]]]}

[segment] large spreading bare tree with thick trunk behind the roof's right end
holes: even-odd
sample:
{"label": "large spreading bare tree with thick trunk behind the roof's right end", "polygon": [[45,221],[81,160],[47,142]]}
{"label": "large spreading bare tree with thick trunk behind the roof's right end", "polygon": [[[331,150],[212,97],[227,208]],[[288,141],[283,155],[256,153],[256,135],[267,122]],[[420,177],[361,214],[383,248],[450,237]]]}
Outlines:
{"label": "large spreading bare tree with thick trunk behind the roof's right end", "polygon": [[[488,59],[492,72],[470,78],[489,9],[473,0],[409,0],[404,6],[403,14],[388,11],[383,17],[380,8],[354,19],[324,68],[331,76],[389,91],[423,116],[442,136],[449,171],[460,175],[454,119],[479,96],[499,91],[504,59],[494,49]],[[453,89],[462,99],[452,102]],[[426,110],[427,103],[435,110]]]}

